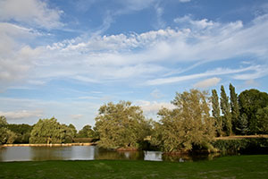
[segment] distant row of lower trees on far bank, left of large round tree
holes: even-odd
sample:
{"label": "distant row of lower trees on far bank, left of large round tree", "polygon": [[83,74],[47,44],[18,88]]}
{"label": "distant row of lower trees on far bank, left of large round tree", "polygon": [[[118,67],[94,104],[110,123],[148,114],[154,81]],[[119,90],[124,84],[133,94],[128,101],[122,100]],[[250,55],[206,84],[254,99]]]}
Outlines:
{"label": "distant row of lower trees on far bank, left of large round tree", "polygon": [[37,124],[8,124],[0,116],[0,144],[11,143],[71,143],[74,139],[95,138],[90,125],[85,125],[79,132],[73,124],[60,124],[54,117],[39,119]]}

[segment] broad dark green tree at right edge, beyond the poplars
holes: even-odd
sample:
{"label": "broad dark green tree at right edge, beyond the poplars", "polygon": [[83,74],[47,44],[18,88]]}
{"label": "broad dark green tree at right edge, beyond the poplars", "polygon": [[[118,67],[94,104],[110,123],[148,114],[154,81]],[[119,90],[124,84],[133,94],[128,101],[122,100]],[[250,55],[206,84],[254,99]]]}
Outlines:
{"label": "broad dark green tree at right edge, beyond the poplars", "polygon": [[[268,94],[259,90],[244,90],[239,94],[240,114],[247,115],[248,134],[267,133],[265,107],[268,107]],[[264,119],[264,120],[263,120]]]}

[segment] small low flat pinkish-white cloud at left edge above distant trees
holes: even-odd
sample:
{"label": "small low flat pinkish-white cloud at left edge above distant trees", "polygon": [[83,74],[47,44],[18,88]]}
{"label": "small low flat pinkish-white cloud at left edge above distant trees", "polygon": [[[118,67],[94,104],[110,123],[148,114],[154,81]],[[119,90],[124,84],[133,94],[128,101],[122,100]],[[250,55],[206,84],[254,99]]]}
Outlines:
{"label": "small low flat pinkish-white cloud at left edge above distant trees", "polygon": [[42,111],[10,111],[10,112],[3,112],[0,111],[0,115],[4,115],[7,119],[25,119],[31,117],[41,117]]}

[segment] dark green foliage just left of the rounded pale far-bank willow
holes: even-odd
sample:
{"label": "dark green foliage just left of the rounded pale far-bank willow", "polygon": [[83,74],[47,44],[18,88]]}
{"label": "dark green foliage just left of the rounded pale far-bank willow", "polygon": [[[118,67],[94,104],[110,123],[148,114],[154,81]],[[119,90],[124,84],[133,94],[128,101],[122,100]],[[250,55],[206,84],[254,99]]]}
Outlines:
{"label": "dark green foliage just left of the rounded pale far-bank willow", "polygon": [[29,124],[8,124],[6,128],[17,136],[14,143],[29,143],[29,136],[32,126]]}

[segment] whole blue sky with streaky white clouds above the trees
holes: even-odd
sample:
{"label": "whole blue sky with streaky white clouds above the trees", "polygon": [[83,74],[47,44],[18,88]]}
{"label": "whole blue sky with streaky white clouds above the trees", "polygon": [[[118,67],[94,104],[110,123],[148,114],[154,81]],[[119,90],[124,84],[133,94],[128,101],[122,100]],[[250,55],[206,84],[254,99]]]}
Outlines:
{"label": "whole blue sky with streaky white clouds above the trees", "polygon": [[129,100],[268,89],[267,0],[0,0],[0,115],[77,129]]}

